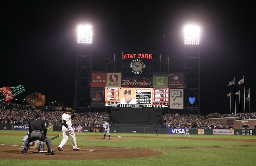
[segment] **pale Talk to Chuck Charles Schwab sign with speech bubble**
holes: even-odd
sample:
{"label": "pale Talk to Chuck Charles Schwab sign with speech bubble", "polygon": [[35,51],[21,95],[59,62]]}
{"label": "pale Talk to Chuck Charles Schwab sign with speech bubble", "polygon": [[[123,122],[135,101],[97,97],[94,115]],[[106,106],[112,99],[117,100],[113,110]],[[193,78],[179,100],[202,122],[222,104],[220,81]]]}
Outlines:
{"label": "pale Talk to Chuck Charles Schwab sign with speech bubble", "polygon": [[184,109],[184,90],[170,89],[170,109]]}

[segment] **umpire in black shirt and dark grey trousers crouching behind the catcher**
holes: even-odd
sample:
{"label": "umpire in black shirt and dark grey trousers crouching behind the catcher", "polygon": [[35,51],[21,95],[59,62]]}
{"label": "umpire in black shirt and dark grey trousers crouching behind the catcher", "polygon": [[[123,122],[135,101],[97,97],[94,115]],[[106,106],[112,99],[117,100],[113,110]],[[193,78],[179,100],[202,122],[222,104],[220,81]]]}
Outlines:
{"label": "umpire in black shirt and dark grey trousers crouching behind the catcher", "polygon": [[50,138],[46,137],[47,133],[47,124],[44,120],[42,120],[41,114],[35,114],[35,120],[29,123],[29,135],[27,140],[24,141],[22,154],[26,154],[28,149],[28,144],[31,141],[43,141],[46,142],[48,148],[48,155],[54,155],[55,153],[52,151],[52,141]]}

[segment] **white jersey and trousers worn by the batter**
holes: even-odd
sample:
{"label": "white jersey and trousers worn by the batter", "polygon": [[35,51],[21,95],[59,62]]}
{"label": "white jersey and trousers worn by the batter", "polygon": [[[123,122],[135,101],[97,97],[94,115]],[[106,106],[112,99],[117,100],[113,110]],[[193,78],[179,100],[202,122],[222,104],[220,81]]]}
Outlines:
{"label": "white jersey and trousers worn by the batter", "polygon": [[[66,124],[68,125],[68,128],[66,128],[64,125],[61,128],[62,132],[63,132],[63,139],[60,142],[59,147],[62,148],[62,146],[64,146],[65,143],[68,141],[68,136],[70,136],[71,139],[72,139],[73,149],[76,149],[77,148],[76,135],[75,135],[74,129],[72,128],[71,115],[63,113],[62,117],[61,117],[61,120],[62,120],[62,122],[66,121]],[[70,130],[70,132],[66,133],[68,130]]]}

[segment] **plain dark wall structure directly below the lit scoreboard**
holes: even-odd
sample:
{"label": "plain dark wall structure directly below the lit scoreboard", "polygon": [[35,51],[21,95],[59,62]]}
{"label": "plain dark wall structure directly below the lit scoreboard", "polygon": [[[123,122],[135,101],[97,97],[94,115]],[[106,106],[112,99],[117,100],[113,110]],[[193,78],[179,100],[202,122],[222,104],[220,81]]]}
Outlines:
{"label": "plain dark wall structure directly below the lit scoreboard", "polygon": [[110,115],[114,124],[163,125],[162,109],[113,107]]}

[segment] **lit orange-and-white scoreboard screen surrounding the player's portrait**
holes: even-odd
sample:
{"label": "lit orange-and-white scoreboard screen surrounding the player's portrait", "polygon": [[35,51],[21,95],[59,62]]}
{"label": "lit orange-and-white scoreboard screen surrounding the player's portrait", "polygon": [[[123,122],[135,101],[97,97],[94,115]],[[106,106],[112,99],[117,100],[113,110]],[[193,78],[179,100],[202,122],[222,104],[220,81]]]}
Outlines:
{"label": "lit orange-and-white scoreboard screen surrounding the player's portrait", "polygon": [[[129,92],[131,98],[136,100],[136,103],[121,102],[125,92]],[[105,87],[105,106],[164,108],[168,105],[169,88]]]}

